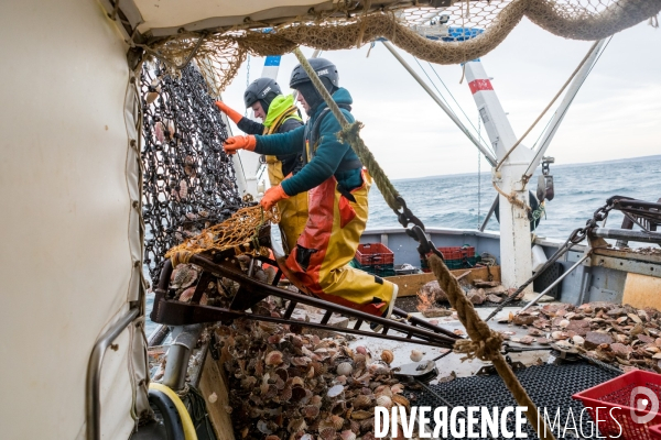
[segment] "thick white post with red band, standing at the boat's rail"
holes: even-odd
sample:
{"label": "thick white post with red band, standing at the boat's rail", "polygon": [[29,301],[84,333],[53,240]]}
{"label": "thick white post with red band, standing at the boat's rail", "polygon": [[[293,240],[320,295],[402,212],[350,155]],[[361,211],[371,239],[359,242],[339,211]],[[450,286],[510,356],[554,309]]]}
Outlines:
{"label": "thick white post with red band, standing at the boat's rail", "polygon": [[[489,140],[498,160],[501,161],[517,142],[517,136],[479,59],[466,63],[466,78]],[[532,156],[530,148],[519,145],[492,176],[494,183],[505,194],[513,195],[525,205],[529,205],[528,189],[521,182],[521,176],[528,168]],[[510,204],[501,195],[499,220],[502,285],[507,288],[518,287],[532,275],[528,212],[525,209]],[[524,292],[532,292],[532,286],[527,287]]]}

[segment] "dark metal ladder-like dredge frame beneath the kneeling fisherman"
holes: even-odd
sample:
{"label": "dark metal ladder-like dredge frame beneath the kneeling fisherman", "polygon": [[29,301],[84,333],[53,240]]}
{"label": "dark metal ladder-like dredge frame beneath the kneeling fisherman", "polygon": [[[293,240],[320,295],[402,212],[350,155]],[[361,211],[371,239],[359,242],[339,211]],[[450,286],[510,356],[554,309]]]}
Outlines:
{"label": "dark metal ladder-like dredge frame beneath the kneeling fisherman", "polygon": [[[260,244],[268,245],[268,233],[262,231],[259,239]],[[257,261],[278,267],[278,272],[272,284],[261,283],[254,278],[251,278],[249,276],[250,270],[248,271],[248,274],[243,273],[239,262],[235,257],[234,249],[224,252],[215,252],[213,254],[201,253],[191,255],[187,262],[201,267],[202,274],[189,302],[182,302],[169,298],[169,285],[173,266],[171,261],[166,261],[163,270],[161,271],[159,285],[154,289],[155,298],[150,316],[151,320],[167,326],[185,326],[217,321],[228,323],[235,319],[251,319],[292,326],[299,323],[299,321],[292,321],[291,317],[296,306],[301,304],[325,310],[321,322],[300,322],[301,326],[313,329],[330,330],[335,332],[381,338],[401,342],[420,343],[446,349],[452,348],[454,342],[457,339],[460,339],[460,337],[452,331],[431,324],[420,318],[412,317],[407,311],[398,308],[394,308],[392,315],[394,317],[399,317],[400,319],[387,319],[354,310],[349,307],[325,301],[312,295],[296,294],[291,290],[280,288],[278,287],[278,283],[284,274],[290,282],[299,288],[300,292],[306,293],[305,287],[286,271],[283,261],[273,261],[264,256],[256,256],[250,265],[252,266]],[[216,307],[201,304],[201,299],[206,286],[214,278],[229,278],[239,284],[240,287],[234,296],[229,307]],[[252,306],[270,295],[289,301],[284,310],[280,312],[280,316],[264,316],[256,314],[251,310]],[[356,323],[351,328],[337,328],[329,326],[328,321],[333,314],[340,314],[349,318],[354,318],[356,319]],[[364,322],[376,322],[383,326],[383,329],[380,332],[360,330],[360,327]]]}

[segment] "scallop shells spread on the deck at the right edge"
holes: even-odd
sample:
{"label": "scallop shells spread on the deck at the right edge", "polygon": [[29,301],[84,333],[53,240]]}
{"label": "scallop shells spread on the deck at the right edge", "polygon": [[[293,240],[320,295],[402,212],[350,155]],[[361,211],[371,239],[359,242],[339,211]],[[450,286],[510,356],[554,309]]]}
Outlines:
{"label": "scallop shells spread on the deck at the right edge", "polygon": [[550,304],[510,314],[507,321],[529,328],[512,342],[556,343],[576,348],[599,361],[661,373],[661,312],[614,302],[582,306]]}

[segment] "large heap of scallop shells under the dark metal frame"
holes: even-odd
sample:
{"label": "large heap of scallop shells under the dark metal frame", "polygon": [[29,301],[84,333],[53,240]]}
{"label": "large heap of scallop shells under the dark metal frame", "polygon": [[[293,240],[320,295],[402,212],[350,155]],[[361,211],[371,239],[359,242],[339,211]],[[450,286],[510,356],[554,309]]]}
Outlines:
{"label": "large heap of scallop shells under the dark metal frame", "polygon": [[238,439],[371,440],[375,406],[410,409],[392,376],[392,352],[372,360],[342,337],[301,334],[296,327],[236,320],[215,329]]}

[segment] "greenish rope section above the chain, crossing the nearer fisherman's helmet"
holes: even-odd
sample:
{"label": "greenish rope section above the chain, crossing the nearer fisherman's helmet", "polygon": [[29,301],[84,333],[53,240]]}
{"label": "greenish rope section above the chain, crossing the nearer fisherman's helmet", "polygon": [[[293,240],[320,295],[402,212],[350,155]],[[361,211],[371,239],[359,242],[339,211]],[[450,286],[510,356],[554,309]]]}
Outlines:
{"label": "greenish rope section above the chain, crossing the nearer fisherman's helmet", "polygon": [[349,123],[349,121],[347,121],[344,113],[339,110],[339,107],[337,107],[337,103],[335,103],[330,97],[330,94],[328,94],[328,90],[326,90],[319,77],[316,75],[316,72],[314,72],[310,63],[307,63],[303,52],[296,47],[294,50],[294,54],[296,55],[296,58],[299,58],[301,66],[303,66],[307,73],[307,76],[312,80],[312,84],[314,84],[314,87],[317,89],[322,98],[324,98],[324,101],[333,112],[333,116],[335,116],[339,122],[342,127],[342,131],[337,133],[339,141],[351,145],[351,148],[354,152],[356,152],[356,155],[362,165],[365,165],[365,167],[369,170],[369,174],[375,179],[375,183],[377,184],[379,191],[381,191],[383,195],[388,206],[391,209],[399,210],[401,205],[399,201],[397,201],[397,198],[399,197],[398,190],[394,188],[394,186],[392,186],[390,179],[383,172],[383,168],[381,168],[373,154],[371,154],[367,145],[365,145],[365,142],[362,142],[360,139],[359,132],[362,129],[362,123],[359,121]]}

